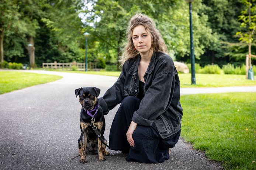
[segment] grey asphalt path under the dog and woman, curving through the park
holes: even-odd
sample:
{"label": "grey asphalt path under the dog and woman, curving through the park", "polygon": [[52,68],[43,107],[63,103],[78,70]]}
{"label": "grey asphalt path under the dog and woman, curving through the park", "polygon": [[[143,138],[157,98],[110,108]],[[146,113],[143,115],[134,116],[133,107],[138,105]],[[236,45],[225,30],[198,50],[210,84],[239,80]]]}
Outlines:
{"label": "grey asphalt path under the dog and woman, curving through the park", "polygon": [[[203,152],[196,151],[180,138],[172,149],[170,159],[159,164],[126,162],[126,154],[109,150],[105,161],[97,155],[87,155],[87,163],[79,163],[77,139],[80,136],[81,105],[75,89],[98,87],[102,96],[117,77],[79,73],[25,70],[63,76],[55,82],[40,84],[0,95],[0,169],[104,169],[104,170],[215,170],[221,164],[208,160]],[[229,87],[228,89],[230,89]],[[233,88],[233,87],[232,87]],[[211,88],[182,88],[181,94],[210,92]],[[218,91],[218,92],[216,92]],[[224,88],[212,92],[225,92]],[[236,87],[233,91],[256,91],[256,87]],[[118,106],[105,116],[105,138]],[[184,113],[185,115],[186,113]],[[72,159],[74,158],[74,159]]]}

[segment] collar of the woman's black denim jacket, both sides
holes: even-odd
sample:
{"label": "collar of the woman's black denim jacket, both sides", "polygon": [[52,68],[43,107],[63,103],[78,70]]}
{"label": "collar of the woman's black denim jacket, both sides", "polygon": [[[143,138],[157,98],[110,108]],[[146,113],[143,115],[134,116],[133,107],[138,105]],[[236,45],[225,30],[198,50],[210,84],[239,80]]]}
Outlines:
{"label": "collar of the woman's black denim jacket, both sides", "polygon": [[[132,65],[132,69],[129,72],[129,75],[135,76],[138,74],[138,66],[139,66],[140,60],[141,60],[141,55],[140,54],[136,55],[136,57],[134,58],[134,64]],[[154,51],[152,54],[152,57],[150,59],[146,73],[148,73],[148,74],[152,73],[154,65],[155,65],[155,60],[156,60],[156,52]]]}

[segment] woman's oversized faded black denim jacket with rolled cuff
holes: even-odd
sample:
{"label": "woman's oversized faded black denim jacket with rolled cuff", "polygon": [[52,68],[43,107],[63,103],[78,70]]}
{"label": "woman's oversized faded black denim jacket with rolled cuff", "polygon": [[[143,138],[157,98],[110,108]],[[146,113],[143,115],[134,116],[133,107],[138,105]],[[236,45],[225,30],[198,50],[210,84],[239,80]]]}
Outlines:
{"label": "woman's oversized faded black denim jacket with rolled cuff", "polygon": [[[99,98],[105,115],[125,97],[138,95],[140,59],[139,54],[128,59],[117,82]],[[143,126],[151,126],[155,122],[160,136],[169,137],[180,130],[183,115],[179,101],[180,80],[172,58],[162,52],[153,53],[144,80],[144,98],[132,121]]]}

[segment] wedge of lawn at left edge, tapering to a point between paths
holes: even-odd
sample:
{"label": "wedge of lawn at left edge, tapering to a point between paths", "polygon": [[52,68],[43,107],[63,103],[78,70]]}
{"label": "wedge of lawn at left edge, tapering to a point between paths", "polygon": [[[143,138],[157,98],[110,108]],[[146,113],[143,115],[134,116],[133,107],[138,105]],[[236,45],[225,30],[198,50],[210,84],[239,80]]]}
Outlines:
{"label": "wedge of lawn at left edge, tapering to a point between paths", "polygon": [[37,73],[24,73],[14,71],[0,72],[0,94],[18,90],[25,87],[53,82],[61,79],[61,76],[45,75]]}

